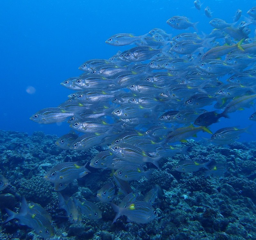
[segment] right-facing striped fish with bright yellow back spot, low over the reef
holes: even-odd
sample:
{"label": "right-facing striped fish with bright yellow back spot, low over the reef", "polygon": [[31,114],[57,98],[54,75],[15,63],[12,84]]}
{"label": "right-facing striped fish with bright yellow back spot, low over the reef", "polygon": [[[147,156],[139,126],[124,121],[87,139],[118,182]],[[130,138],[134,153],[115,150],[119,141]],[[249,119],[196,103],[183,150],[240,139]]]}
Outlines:
{"label": "right-facing striped fish with bright yellow back spot, low over the reef", "polygon": [[129,203],[126,204],[125,208],[111,203],[111,207],[117,212],[113,223],[116,222],[121,215],[126,216],[129,221],[137,223],[148,223],[157,217],[156,210],[151,204],[146,202]]}

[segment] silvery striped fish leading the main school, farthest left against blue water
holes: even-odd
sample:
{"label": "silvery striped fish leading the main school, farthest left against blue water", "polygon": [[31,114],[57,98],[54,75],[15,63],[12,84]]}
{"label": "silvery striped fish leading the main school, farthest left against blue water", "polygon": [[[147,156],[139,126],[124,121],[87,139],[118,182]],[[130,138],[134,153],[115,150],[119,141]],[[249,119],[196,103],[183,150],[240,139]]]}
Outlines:
{"label": "silvery striped fish leading the main school, farthest left against blue water", "polygon": [[33,114],[30,117],[30,120],[41,124],[59,123],[65,121],[67,117],[73,115],[74,113],[68,112],[61,108],[43,108],[37,113]]}

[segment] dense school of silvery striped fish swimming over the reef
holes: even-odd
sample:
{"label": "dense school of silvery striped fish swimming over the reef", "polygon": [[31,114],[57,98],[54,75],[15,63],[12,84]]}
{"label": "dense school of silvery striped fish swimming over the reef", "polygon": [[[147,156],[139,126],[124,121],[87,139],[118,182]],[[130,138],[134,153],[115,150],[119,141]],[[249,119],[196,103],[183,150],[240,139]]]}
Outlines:
{"label": "dense school of silvery striped fish swimming over the reef", "polygon": [[[195,11],[201,9],[199,0],[194,4]],[[208,6],[204,12],[212,18]],[[255,102],[256,38],[250,33],[256,24],[256,7],[246,16],[238,9],[231,23],[212,18],[208,35],[199,34],[197,22],[185,16],[172,16],[166,22],[171,33],[154,28],[141,36],[110,36],[107,44],[127,46],[127,50],[109,59],[86,60],[79,67],[80,76],[61,83],[73,91],[68,100],[30,117],[40,124],[68,122],[70,132],[55,143],[62,149],[105,148],[90,164],[59,163],[44,175],[54,184],[52,191],[58,192],[59,207],[67,212],[71,223],[81,222],[82,215],[92,220],[102,217],[91,201],[61,194],[74,180],[92,174],[86,165],[112,169],[113,181],[97,189],[95,199],[111,205],[116,212],[113,223],[121,215],[129,221],[148,223],[157,217],[154,203],[163,192],[156,185],[138,199],[140,193],[131,187],[131,181],[149,179],[161,167],[160,159],[183,154],[173,169],[183,173],[204,169],[204,177],[221,177],[227,171],[217,161],[192,161],[186,156],[186,147],[172,144],[187,142],[204,132],[202,144],[225,145],[249,132],[249,127],[232,126],[232,119],[231,126],[214,133],[209,126]],[[172,36],[172,28],[187,32]],[[256,121],[256,113],[248,118]],[[0,190],[7,185],[8,180],[0,175]],[[112,203],[117,196],[123,196],[119,205]],[[29,205],[23,198],[19,213],[6,211],[6,221],[16,218],[40,236],[54,235],[51,217],[40,205]]]}

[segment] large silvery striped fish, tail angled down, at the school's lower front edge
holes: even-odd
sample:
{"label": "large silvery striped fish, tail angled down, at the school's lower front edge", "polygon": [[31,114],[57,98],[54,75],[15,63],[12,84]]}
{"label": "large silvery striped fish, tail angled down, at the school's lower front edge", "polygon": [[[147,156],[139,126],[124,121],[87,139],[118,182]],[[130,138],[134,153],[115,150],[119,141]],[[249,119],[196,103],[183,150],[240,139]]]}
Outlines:
{"label": "large silvery striped fish, tail angled down, at the school's lower front edge", "polygon": [[113,154],[124,161],[138,164],[146,162],[153,163],[155,166],[159,167],[157,161],[161,159],[161,157],[150,157],[146,152],[132,144],[112,144],[109,146],[109,149]]}

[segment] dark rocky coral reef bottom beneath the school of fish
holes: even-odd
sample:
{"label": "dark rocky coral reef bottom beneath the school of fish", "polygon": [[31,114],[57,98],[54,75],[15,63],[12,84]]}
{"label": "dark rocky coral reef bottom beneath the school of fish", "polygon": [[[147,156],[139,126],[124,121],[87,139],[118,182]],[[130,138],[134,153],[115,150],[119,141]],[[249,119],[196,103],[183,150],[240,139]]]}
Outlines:
{"label": "dark rocky coral reef bottom beneath the school of fish", "polygon": [[[34,132],[31,136],[21,132],[0,131],[0,174],[10,184],[0,192],[0,239],[42,239],[31,228],[17,220],[4,223],[5,208],[17,212],[21,196],[27,201],[41,204],[52,216],[55,236],[52,239],[93,240],[193,240],[256,239],[256,142],[235,142],[215,146],[189,140],[188,156],[196,162],[225,164],[227,172],[220,177],[204,178],[204,170],[181,173],[173,166],[184,158],[176,154],[161,159],[160,168],[150,176],[131,185],[145,195],[155,184],[164,191],[164,197],[154,204],[158,217],[147,223],[126,222],[121,216],[112,224],[115,212],[109,203],[97,202],[97,190],[106,182],[114,182],[109,169],[93,169],[62,192],[88,199],[100,208],[102,218],[83,217],[72,224],[66,212],[58,207],[58,194],[53,183],[46,181],[44,173],[52,166],[68,161],[85,164],[104,148],[82,151],[62,150],[54,143],[57,136]],[[88,164],[89,165],[89,164]],[[150,168],[156,168],[150,165]],[[123,196],[116,197],[118,204]]]}

